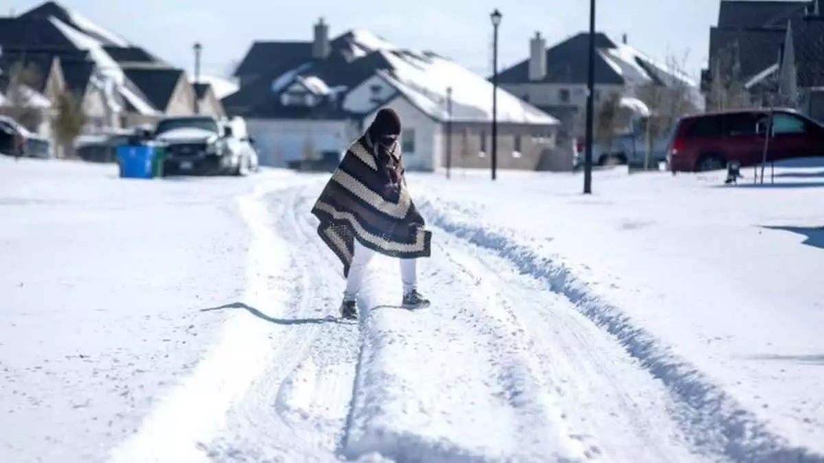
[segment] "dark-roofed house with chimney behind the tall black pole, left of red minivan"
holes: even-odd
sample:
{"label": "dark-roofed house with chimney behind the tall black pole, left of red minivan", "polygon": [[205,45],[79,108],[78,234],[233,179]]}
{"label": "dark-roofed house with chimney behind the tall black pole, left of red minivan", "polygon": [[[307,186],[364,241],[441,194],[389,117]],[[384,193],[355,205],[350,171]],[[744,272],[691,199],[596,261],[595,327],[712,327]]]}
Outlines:
{"label": "dark-roofed house with chimney behind the tall black pole, left of red minivan", "polygon": [[[602,32],[595,35],[596,105],[617,96],[628,110],[646,115],[648,107],[635,96],[639,88],[648,85],[680,91],[699,105],[698,87],[690,77],[672,63],[649,58],[627,41],[627,35],[620,42]],[[499,71],[499,86],[561,119],[565,127],[580,135],[580,116],[588,96],[588,49],[588,32],[572,35],[549,48],[541,33],[536,32],[529,43],[528,57]]]}

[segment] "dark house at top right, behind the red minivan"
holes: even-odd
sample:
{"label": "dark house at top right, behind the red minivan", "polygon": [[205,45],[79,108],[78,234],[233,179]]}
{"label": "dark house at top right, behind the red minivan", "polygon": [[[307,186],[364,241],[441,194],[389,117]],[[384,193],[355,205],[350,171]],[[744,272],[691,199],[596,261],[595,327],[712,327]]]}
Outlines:
{"label": "dark house at top right, behind the red minivan", "polygon": [[822,0],[722,0],[702,76],[708,105],[784,105],[824,120],[822,14]]}

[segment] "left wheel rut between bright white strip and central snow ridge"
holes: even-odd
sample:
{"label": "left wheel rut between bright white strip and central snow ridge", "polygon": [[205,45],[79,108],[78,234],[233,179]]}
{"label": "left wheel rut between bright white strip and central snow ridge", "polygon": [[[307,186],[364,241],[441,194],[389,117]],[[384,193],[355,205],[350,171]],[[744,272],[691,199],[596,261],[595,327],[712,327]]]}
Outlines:
{"label": "left wheel rut between bright white strip and central snow ridge", "polygon": [[338,288],[327,282],[342,278],[332,271],[328,250],[318,245],[304,190],[291,188],[269,198],[275,230],[293,250],[286,272],[297,280],[293,306],[282,318],[268,320],[278,327],[274,336],[283,351],[236,408],[231,437],[213,446],[219,461],[336,461],[351,400],[358,329],[330,318]]}

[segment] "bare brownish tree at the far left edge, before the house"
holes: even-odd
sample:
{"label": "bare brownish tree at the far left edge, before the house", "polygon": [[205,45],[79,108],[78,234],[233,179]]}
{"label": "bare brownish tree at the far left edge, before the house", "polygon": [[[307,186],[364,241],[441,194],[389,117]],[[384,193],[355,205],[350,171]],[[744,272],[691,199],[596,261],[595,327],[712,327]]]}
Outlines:
{"label": "bare brownish tree at the far left edge, before the house", "polygon": [[35,105],[35,88],[40,82],[40,72],[34,64],[14,63],[8,73],[6,105],[0,107],[2,114],[37,132],[43,119],[40,108]]}

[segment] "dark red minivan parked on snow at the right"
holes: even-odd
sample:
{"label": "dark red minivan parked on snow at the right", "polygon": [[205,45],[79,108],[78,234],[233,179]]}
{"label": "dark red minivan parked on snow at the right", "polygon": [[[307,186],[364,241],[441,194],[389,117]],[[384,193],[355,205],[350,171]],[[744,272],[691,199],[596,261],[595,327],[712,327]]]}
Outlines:
{"label": "dark red minivan parked on snow at the right", "polygon": [[767,161],[824,156],[824,126],[795,110],[726,110],[678,121],[667,150],[670,170],[714,171],[729,161],[741,166],[761,163],[770,114],[773,135],[767,144]]}

